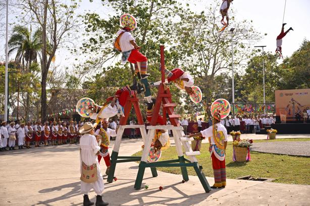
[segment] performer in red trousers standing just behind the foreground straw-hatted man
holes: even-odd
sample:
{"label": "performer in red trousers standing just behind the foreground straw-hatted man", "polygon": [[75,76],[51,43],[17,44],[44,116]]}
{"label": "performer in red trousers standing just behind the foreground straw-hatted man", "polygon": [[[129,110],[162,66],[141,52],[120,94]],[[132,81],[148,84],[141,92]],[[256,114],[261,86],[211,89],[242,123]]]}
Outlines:
{"label": "performer in red trousers standing just behind the foreground straw-hatted man", "polygon": [[103,157],[107,166],[106,174],[109,174],[110,166],[111,166],[111,161],[110,161],[110,154],[109,154],[109,143],[110,143],[110,138],[111,136],[116,136],[116,130],[115,129],[110,129],[108,128],[109,125],[109,120],[107,119],[102,119],[101,124],[98,124],[96,127],[95,134],[99,136],[104,136],[104,139],[106,141],[102,142],[101,139],[101,144],[100,150],[99,150],[99,155],[98,155],[98,162],[100,164],[100,160]]}

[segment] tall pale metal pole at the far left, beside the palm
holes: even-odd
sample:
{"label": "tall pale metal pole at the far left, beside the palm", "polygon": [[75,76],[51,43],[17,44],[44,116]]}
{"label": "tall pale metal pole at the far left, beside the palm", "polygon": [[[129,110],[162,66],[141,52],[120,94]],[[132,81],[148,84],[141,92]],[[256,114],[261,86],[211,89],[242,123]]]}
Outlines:
{"label": "tall pale metal pole at the far left, beside the palm", "polygon": [[9,40],[9,34],[8,34],[8,26],[9,26],[9,0],[7,0],[7,20],[6,20],[6,70],[5,70],[5,121],[8,121],[8,62],[9,62],[9,56],[8,56],[8,40]]}

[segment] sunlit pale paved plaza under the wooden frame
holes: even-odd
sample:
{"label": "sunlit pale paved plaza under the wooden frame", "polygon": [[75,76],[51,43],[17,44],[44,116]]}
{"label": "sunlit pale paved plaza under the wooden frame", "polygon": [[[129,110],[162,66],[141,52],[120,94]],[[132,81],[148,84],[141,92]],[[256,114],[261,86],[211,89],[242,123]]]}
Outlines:
{"label": "sunlit pale paved plaza under the wooden frame", "polygon": [[[252,139],[266,139],[266,135],[245,134]],[[277,135],[277,138],[309,138],[309,135]],[[231,137],[230,137],[231,139]],[[111,142],[113,147],[114,142]],[[132,155],[141,148],[142,140],[122,141],[120,155]],[[111,149],[112,151],[112,149]],[[309,160],[310,161],[310,160]],[[78,145],[49,146],[0,153],[0,205],[82,205],[79,180]],[[106,171],[101,162],[101,171]],[[204,168],[208,170],[212,168]],[[138,164],[120,163],[116,168],[117,181],[105,184],[104,200],[109,205],[309,205],[310,185],[228,179],[224,189],[205,193],[198,177],[182,176],[158,171],[152,178],[145,170],[142,186],[133,188]],[[106,176],[105,176],[106,178]],[[207,178],[210,185],[213,178]],[[106,182],[106,180],[105,180]],[[164,190],[160,191],[159,186]],[[95,193],[89,197],[95,200]]]}

